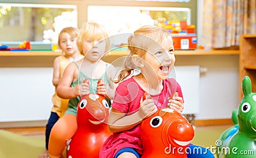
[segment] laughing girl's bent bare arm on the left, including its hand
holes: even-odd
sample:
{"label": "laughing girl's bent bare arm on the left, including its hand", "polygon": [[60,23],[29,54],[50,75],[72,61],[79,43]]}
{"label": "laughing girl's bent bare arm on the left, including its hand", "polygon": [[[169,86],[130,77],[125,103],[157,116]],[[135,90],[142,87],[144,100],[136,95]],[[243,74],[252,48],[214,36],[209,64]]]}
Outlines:
{"label": "laughing girl's bent bare arm on the left, including its hand", "polygon": [[140,109],[132,115],[126,115],[116,109],[111,109],[109,115],[109,130],[111,132],[122,132],[129,130],[142,122],[144,118],[156,113],[157,107],[152,99],[147,99],[141,102]]}

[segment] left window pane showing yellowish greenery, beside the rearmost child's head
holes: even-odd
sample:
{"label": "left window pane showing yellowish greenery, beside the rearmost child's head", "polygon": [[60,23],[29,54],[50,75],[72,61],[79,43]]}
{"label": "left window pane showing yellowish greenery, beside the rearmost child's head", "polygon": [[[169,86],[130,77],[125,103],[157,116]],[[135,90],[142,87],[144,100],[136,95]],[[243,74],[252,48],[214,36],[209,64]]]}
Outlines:
{"label": "left window pane showing yellowish greenery, beside the rearmost child's head", "polygon": [[0,41],[57,42],[61,29],[77,27],[77,9],[66,4],[0,4]]}

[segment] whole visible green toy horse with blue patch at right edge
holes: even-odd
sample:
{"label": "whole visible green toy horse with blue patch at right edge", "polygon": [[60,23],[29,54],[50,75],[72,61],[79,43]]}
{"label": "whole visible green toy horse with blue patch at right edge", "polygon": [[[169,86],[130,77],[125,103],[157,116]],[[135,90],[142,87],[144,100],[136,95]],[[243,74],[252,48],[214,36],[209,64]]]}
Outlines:
{"label": "whole visible green toy horse with blue patch at right edge", "polygon": [[243,78],[244,97],[232,113],[233,127],[221,134],[217,145],[218,158],[255,158],[256,93],[252,93],[250,77]]}

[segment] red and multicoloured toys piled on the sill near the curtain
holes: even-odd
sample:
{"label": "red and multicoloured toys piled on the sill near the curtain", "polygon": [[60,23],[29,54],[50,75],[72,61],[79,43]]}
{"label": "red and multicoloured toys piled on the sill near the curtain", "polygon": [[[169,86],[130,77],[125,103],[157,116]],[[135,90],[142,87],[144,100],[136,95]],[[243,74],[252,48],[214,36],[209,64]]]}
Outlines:
{"label": "red and multicoloured toys piled on the sill near the curtain", "polygon": [[175,49],[196,49],[195,25],[188,26],[183,20],[166,20],[158,26],[172,34]]}

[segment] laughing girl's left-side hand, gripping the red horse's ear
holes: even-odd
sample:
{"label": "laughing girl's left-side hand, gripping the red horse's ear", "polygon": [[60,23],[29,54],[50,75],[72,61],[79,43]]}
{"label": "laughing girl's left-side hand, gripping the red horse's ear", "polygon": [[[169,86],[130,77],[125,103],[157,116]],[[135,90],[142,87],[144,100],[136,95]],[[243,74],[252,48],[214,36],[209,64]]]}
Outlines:
{"label": "laughing girl's left-side hand, gripping the red horse's ear", "polygon": [[146,100],[143,100],[143,97],[141,97],[141,103],[140,103],[140,109],[139,109],[139,115],[141,118],[148,118],[149,116],[156,113],[157,107],[154,103],[154,101],[147,97]]}

